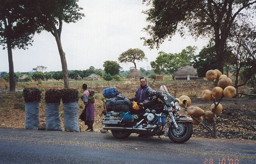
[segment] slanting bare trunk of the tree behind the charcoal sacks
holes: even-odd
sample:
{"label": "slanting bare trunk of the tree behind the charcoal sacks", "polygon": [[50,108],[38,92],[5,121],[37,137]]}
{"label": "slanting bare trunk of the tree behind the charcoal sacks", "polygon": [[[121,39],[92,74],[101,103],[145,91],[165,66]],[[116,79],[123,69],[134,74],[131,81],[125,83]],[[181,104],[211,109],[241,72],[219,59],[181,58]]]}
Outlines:
{"label": "slanting bare trunk of the tree behind the charcoal sacks", "polygon": [[55,40],[56,40],[56,43],[58,46],[58,50],[59,50],[59,54],[60,54],[60,61],[62,62],[62,74],[63,74],[64,88],[69,88],[69,75],[67,74],[66,54],[63,51],[62,43],[60,42],[60,38],[59,38],[59,35],[57,34],[57,30],[54,30],[54,37],[55,37]]}

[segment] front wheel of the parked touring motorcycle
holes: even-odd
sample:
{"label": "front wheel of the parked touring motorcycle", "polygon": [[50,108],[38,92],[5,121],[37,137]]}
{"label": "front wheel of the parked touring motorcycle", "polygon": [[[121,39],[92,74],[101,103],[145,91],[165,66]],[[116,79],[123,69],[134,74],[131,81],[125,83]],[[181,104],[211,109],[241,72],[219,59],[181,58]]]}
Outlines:
{"label": "front wheel of the parked touring motorcycle", "polygon": [[179,129],[173,126],[169,128],[168,137],[175,143],[181,144],[189,140],[193,133],[192,123],[178,123]]}

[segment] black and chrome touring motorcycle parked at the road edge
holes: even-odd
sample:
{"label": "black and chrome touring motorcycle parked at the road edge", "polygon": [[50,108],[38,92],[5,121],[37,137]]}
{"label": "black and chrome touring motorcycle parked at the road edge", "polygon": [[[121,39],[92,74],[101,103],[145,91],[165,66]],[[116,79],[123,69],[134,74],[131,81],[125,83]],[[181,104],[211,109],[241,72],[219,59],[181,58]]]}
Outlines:
{"label": "black and chrome touring motorcycle parked at the road edge", "polygon": [[[183,102],[186,106],[186,101]],[[193,120],[178,114],[178,100],[172,97],[166,86],[153,91],[140,110],[108,111],[103,118],[104,130],[111,130],[115,138],[127,138],[131,133],[164,135],[175,143],[189,140],[193,132]],[[141,112],[139,112],[141,111]]]}

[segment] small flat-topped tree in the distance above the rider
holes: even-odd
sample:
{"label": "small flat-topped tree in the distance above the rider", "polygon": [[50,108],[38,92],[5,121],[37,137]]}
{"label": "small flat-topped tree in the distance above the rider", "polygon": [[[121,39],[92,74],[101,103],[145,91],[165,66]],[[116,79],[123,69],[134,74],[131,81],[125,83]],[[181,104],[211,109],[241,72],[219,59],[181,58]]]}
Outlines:
{"label": "small flat-topped tree in the distance above the rider", "polygon": [[134,64],[135,69],[136,69],[135,60],[142,61],[144,59],[146,59],[145,54],[142,50],[139,50],[139,48],[135,48],[135,49],[129,48],[129,50],[125,51],[118,57],[119,62],[124,62],[124,63],[132,62]]}

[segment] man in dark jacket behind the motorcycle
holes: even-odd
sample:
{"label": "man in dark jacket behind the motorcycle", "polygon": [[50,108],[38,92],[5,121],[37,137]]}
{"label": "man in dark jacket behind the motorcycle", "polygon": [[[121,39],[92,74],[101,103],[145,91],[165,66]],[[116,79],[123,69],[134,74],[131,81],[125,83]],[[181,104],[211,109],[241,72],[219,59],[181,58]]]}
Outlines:
{"label": "man in dark jacket behind the motorcycle", "polygon": [[141,83],[141,87],[136,90],[135,97],[131,97],[129,99],[143,106],[143,103],[148,100],[149,94],[152,92],[152,89],[146,83],[145,77],[139,78],[139,82]]}

